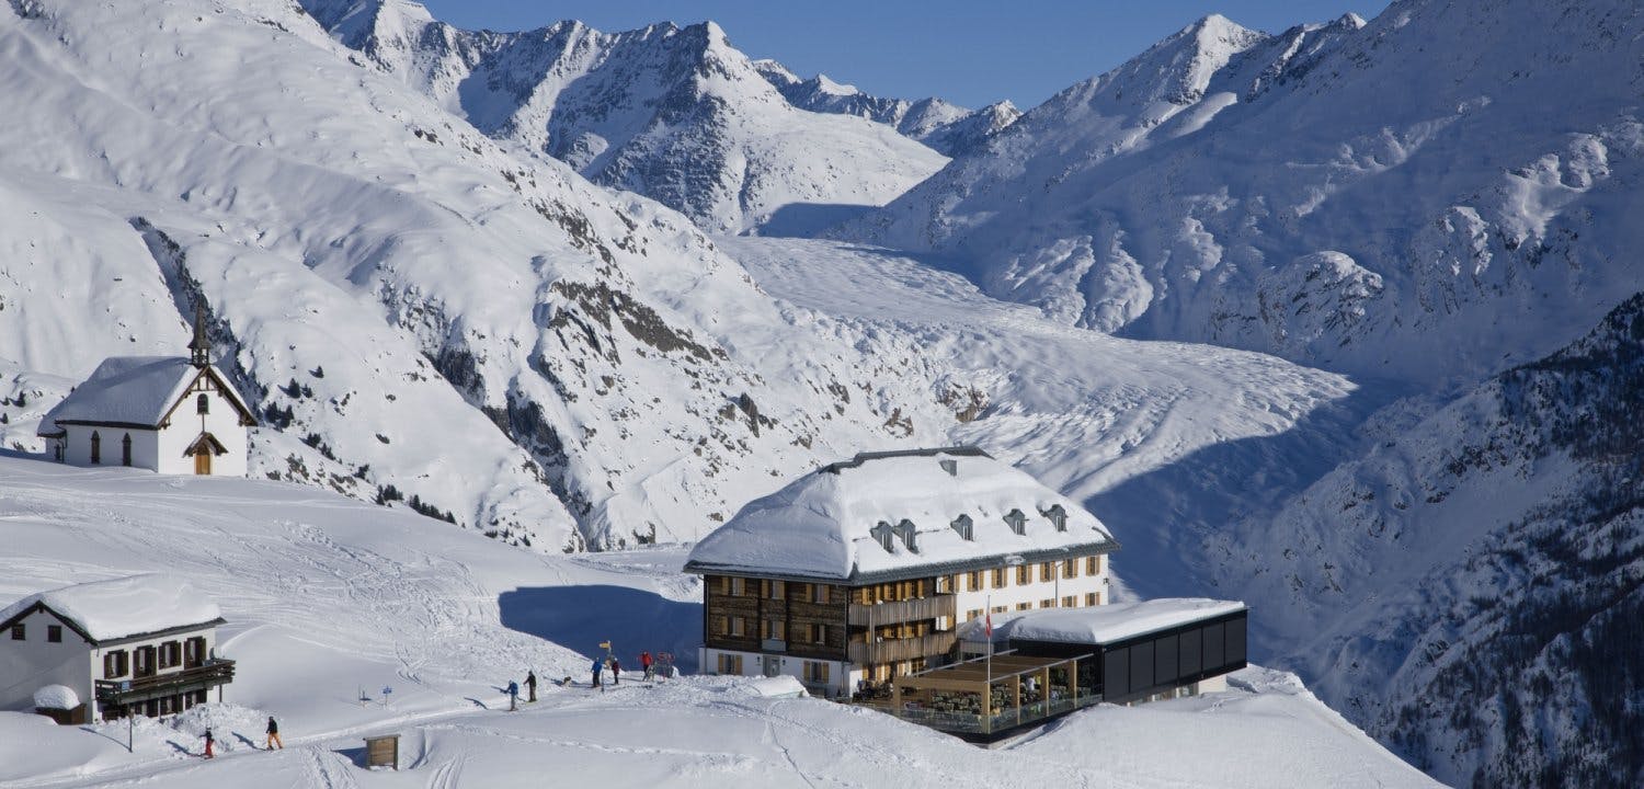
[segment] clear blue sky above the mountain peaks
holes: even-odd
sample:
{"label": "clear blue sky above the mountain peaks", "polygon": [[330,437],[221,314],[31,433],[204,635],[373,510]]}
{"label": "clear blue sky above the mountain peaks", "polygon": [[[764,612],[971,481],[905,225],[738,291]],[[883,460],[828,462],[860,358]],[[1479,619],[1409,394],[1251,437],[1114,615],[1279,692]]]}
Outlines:
{"label": "clear blue sky above the mountain peaks", "polygon": [[423,0],[460,28],[529,30],[582,20],[598,30],[718,21],[751,58],[824,72],[878,95],[940,95],[1023,108],[1124,62],[1208,13],[1276,33],[1386,0]]}

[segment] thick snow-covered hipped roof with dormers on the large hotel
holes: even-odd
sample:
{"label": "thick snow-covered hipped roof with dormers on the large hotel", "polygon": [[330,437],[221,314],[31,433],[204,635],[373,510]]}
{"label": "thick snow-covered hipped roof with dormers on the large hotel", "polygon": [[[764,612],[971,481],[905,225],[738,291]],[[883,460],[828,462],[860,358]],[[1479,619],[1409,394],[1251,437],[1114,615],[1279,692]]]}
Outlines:
{"label": "thick snow-covered hipped roof with dormers on the large hotel", "polygon": [[[1013,513],[1021,534],[1006,521]],[[968,538],[955,528],[962,518]],[[886,528],[896,531],[889,549]],[[686,570],[870,582],[1115,547],[1070,498],[978,449],[954,447],[861,454],[807,473],[697,542]]]}

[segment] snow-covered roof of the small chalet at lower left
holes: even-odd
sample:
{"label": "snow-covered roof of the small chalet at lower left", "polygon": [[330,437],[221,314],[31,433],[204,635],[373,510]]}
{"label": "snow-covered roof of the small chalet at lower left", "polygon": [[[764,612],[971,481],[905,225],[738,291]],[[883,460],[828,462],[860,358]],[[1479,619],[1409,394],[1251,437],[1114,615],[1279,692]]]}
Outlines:
{"label": "snow-covered roof of the small chalet at lower left", "polygon": [[222,620],[217,603],[187,582],[145,574],[36,592],[0,611],[0,621],[10,621],[36,603],[99,643]]}

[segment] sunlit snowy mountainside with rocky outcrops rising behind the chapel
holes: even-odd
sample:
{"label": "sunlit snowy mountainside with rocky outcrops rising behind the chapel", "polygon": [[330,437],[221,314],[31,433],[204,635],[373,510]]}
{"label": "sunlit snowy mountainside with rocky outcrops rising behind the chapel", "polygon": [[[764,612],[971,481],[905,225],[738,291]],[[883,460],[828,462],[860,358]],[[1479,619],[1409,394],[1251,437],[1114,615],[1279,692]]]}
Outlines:
{"label": "sunlit snowy mountainside with rocky outcrops rising behind the chapel", "polygon": [[181,352],[197,302],[265,422],[253,475],[546,551],[692,539],[954,422],[679,214],[518,156],[291,3],[3,8],[7,445],[104,357]]}

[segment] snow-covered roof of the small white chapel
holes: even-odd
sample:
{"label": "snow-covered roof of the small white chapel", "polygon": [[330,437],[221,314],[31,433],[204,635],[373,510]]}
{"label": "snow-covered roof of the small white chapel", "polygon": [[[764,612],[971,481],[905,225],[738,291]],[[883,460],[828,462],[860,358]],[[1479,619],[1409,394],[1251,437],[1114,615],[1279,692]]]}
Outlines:
{"label": "snow-covered roof of the small white chapel", "polygon": [[[250,416],[245,401],[227,386],[227,378],[215,367],[209,370],[224,383],[224,393],[242,414]],[[58,421],[158,427],[197,371],[184,357],[109,357],[85,383],[46,413],[39,434],[59,432]]]}

